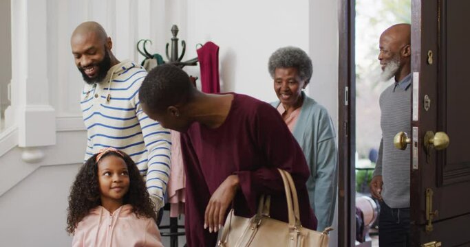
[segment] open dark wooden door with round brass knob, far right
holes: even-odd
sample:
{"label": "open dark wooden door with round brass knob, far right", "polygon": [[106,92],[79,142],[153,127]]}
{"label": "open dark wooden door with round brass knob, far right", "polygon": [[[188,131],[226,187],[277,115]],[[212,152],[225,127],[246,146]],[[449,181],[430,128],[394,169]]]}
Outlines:
{"label": "open dark wooden door with round brass knob, far right", "polygon": [[412,246],[470,246],[469,31],[470,1],[412,0]]}

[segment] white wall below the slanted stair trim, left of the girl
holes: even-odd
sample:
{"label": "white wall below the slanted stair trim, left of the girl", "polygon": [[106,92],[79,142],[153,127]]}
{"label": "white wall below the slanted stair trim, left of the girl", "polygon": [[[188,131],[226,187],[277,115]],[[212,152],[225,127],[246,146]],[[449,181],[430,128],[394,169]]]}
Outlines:
{"label": "white wall below the slanted stair trim, left of the girl", "polygon": [[67,197],[79,165],[40,167],[1,196],[2,246],[70,246]]}

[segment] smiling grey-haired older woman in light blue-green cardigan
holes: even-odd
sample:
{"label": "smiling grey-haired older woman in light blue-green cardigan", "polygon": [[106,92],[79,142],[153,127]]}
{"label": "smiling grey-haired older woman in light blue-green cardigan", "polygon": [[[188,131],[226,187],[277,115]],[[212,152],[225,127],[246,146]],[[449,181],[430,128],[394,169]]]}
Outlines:
{"label": "smiling grey-haired older woman in light blue-green cardigan", "polygon": [[269,58],[268,69],[279,101],[272,105],[301,146],[310,168],[307,189],[319,231],[331,226],[337,193],[337,146],[328,111],[308,97],[312,60],[297,47],[282,47]]}

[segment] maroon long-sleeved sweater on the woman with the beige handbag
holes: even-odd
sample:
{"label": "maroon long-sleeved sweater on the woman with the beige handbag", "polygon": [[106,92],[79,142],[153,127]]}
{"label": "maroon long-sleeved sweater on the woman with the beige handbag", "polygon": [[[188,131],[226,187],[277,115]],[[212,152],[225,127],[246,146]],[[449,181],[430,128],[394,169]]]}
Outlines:
{"label": "maroon long-sleeved sweater on the woman with the beige handbag", "polygon": [[284,120],[269,104],[233,95],[222,126],[210,129],[194,123],[181,135],[189,247],[215,246],[217,233],[204,230],[204,211],[212,193],[231,174],[238,174],[240,185],[233,201],[235,215],[253,216],[257,199],[264,193],[271,195],[271,217],[288,222],[284,184],[277,167],[290,172],[295,181],[302,225],[317,229],[306,189],[308,166]]}

